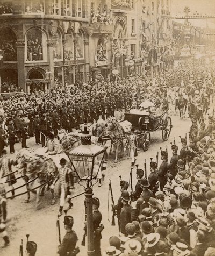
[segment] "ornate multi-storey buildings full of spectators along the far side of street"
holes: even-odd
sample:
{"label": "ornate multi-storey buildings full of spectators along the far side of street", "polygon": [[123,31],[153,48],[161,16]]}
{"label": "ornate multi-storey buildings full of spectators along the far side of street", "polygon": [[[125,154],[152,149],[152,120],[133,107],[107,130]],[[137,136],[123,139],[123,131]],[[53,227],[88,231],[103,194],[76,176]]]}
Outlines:
{"label": "ornate multi-storey buildings full of spectators along the far side of street", "polygon": [[46,70],[51,87],[142,74],[169,44],[169,2],[0,0],[2,91],[47,89]]}

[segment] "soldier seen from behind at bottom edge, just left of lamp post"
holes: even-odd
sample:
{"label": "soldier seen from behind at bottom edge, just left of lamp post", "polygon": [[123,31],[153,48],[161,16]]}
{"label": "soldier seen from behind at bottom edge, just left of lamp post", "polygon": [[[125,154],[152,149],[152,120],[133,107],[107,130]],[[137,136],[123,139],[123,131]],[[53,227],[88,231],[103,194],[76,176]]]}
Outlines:
{"label": "soldier seen from behind at bottom edge, just left of lamp post", "polygon": [[63,223],[67,233],[63,237],[62,244],[59,245],[58,253],[60,256],[75,256],[80,250],[78,247],[76,248],[77,235],[73,230],[73,217],[65,216]]}

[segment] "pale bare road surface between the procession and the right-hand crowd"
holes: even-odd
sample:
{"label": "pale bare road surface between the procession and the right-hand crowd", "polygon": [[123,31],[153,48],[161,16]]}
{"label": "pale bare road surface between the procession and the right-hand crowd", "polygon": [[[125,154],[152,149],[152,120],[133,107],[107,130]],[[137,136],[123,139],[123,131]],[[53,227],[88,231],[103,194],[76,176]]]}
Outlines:
{"label": "pale bare road surface between the procession and the right-hand crowd", "polygon": [[[171,145],[170,141],[176,138],[176,145],[181,147],[180,138],[185,136],[185,133],[188,134],[190,128],[190,119],[185,118],[180,120],[177,116],[172,117],[173,120],[173,129],[170,134],[170,138],[168,141],[163,142],[161,137],[161,131],[153,132],[151,135],[152,143],[150,144],[150,148],[147,152],[143,152],[140,150],[137,162],[139,164],[139,168],[144,169],[144,162],[147,159],[147,172],[149,172],[149,162],[150,157],[153,157],[155,160],[155,156],[157,151],[160,151],[159,148],[163,149],[168,146],[169,158],[171,157]],[[34,138],[31,138],[27,141],[27,145],[30,147],[38,148],[38,145],[35,145]],[[16,144],[16,150],[20,147],[20,144]],[[159,157],[159,161],[161,159]],[[113,162],[113,157],[111,156],[108,161],[107,170],[105,170],[105,180],[102,184],[102,187],[98,187],[96,184],[94,187],[94,195],[101,200],[100,210],[103,215],[102,224],[105,229],[102,232],[102,241],[101,247],[104,252],[105,248],[109,246],[109,237],[113,235],[118,235],[118,226],[117,226],[117,218],[116,218],[116,226],[111,226],[111,217],[112,212],[109,213],[110,222],[107,221],[107,193],[108,193],[108,183],[109,179],[112,182],[114,200],[117,202],[120,196],[120,187],[119,187],[119,175],[122,176],[123,180],[129,179],[131,161],[128,159],[126,155],[120,158],[118,163]],[[20,181],[22,182],[22,181]],[[135,168],[133,169],[133,187],[137,182],[135,177]],[[16,186],[16,185],[15,185]],[[83,192],[83,188],[76,184],[74,195]],[[8,231],[10,233],[11,244],[9,247],[0,249],[0,254],[2,256],[12,256],[18,255],[19,253],[19,245],[21,242],[21,238],[24,239],[24,248],[26,245],[26,234],[30,234],[30,240],[35,241],[38,244],[37,256],[53,256],[56,255],[56,245],[58,241],[58,237],[56,236],[56,219],[59,208],[59,200],[54,205],[51,206],[51,195],[47,192],[46,195],[42,198],[43,208],[41,210],[35,210],[35,196],[32,196],[32,200],[30,203],[25,204],[24,199],[25,196],[16,197],[13,200],[8,201],[8,211],[9,218],[11,219],[8,224]],[[84,222],[84,195],[79,196],[74,199],[74,207],[69,210],[68,214],[74,217],[74,230],[78,236],[77,246],[80,247],[81,252],[78,254],[80,256],[86,255],[86,248],[81,246],[81,241],[83,238],[83,222]],[[61,223],[61,236],[63,237],[63,216],[60,217]],[[3,244],[3,240],[1,241]],[[1,245],[1,244],[0,244]]]}

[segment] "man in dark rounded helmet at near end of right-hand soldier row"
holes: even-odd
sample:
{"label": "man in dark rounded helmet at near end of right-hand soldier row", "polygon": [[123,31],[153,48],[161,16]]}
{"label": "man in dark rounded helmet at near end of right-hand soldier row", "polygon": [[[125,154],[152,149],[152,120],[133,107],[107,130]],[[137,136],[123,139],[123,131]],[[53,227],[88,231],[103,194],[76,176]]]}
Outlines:
{"label": "man in dark rounded helmet at near end of right-hand soldier row", "polygon": [[123,203],[123,208],[121,209],[120,214],[120,234],[121,236],[126,235],[125,226],[127,223],[131,222],[131,205],[128,204],[130,201],[129,193],[127,190],[124,190],[121,193],[121,202]]}

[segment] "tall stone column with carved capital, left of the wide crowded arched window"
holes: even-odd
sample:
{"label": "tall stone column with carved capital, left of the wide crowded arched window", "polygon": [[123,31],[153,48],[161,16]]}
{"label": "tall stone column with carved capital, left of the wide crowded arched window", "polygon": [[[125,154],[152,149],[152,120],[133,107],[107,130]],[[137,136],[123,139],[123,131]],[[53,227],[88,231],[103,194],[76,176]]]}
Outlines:
{"label": "tall stone column with carved capital, left of the wide crowded arched window", "polygon": [[25,82],[25,40],[17,40],[17,73],[18,73],[18,88],[26,91]]}

